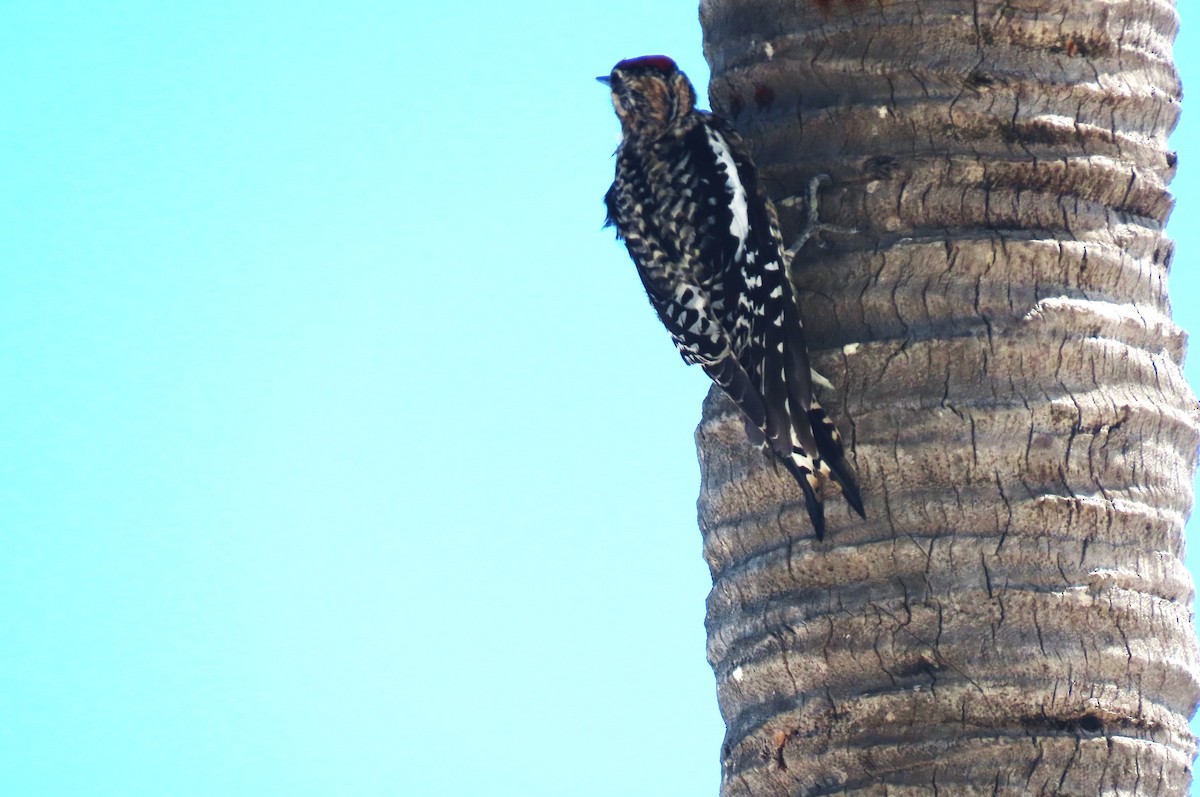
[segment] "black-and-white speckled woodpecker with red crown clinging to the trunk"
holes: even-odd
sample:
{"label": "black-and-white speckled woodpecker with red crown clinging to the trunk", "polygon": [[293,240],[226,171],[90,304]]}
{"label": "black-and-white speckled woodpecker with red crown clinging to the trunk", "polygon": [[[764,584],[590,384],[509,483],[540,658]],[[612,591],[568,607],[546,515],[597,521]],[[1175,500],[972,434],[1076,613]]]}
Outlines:
{"label": "black-and-white speckled woodpecker with red crown clinging to the trunk", "polygon": [[798,246],[784,247],[745,144],[696,109],[691,82],[665,55],[626,59],[596,79],[622,131],[606,226],[624,240],[684,362],[704,370],[742,411],[751,442],[792,473],[817,539],[830,484],[865,517],[841,435],[812,397],[788,276]]}

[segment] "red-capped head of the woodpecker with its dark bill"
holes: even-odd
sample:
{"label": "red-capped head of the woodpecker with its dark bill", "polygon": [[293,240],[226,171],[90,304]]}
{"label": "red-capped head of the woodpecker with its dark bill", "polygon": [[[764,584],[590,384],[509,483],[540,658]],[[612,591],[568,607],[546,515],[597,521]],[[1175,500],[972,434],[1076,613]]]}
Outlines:
{"label": "red-capped head of the woodpecker with its dark bill", "polygon": [[666,55],[625,59],[596,80],[612,91],[612,107],[626,137],[658,137],[696,107],[691,80]]}

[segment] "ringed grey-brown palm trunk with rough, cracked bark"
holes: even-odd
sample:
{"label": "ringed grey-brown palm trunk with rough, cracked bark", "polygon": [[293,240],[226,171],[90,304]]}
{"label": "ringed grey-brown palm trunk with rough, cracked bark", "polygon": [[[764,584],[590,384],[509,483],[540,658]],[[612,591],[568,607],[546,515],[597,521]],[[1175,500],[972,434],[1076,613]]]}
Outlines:
{"label": "ringed grey-brown palm trunk with rough, cracked bark", "polygon": [[[869,520],[817,543],[719,394],[697,430],[725,797],[1183,795],[1196,462],[1163,234],[1162,0],[706,0]],[[794,211],[782,209],[794,233]]]}

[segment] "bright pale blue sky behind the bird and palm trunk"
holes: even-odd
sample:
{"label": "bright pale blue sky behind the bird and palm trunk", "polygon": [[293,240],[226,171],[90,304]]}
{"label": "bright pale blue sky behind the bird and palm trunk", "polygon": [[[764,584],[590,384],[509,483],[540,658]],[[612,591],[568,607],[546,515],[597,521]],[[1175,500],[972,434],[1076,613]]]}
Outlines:
{"label": "bright pale blue sky behind the bird and palm trunk", "polygon": [[715,793],[707,383],[600,229],[593,80],[702,86],[694,0],[20,5],[0,792]]}

